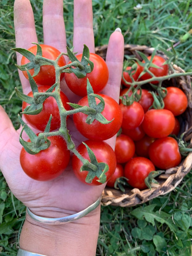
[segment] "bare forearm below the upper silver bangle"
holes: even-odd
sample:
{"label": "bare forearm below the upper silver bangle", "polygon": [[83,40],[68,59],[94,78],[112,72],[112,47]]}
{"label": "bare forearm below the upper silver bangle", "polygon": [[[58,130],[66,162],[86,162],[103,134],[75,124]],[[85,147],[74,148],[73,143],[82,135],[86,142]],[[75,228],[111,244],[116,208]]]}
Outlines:
{"label": "bare forearm below the upper silver bangle", "polygon": [[100,206],[75,222],[40,224],[28,215],[20,234],[20,248],[39,254],[95,256],[100,224]]}

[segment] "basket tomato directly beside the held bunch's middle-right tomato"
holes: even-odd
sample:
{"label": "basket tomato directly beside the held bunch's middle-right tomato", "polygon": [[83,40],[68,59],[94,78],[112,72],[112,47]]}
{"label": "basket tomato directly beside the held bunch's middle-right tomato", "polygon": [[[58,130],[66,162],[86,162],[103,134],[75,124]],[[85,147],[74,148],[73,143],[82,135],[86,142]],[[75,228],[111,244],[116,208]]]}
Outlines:
{"label": "basket tomato directly beside the held bunch's middle-right tomato", "polygon": [[122,129],[135,129],[142,123],[144,111],[137,101],[128,106],[121,103],[120,108],[123,113]]}

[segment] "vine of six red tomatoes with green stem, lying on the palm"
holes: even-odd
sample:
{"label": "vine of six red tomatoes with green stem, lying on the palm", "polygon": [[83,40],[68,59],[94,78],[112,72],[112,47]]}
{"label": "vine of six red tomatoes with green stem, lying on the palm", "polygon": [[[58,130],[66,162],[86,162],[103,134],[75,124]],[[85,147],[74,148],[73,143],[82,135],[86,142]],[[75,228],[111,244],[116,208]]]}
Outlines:
{"label": "vine of six red tomatoes with green stem, lying on the palm", "polygon": [[[19,140],[23,145],[20,164],[24,172],[32,179],[48,181],[61,175],[71,159],[80,181],[89,185],[108,181],[115,171],[116,157],[104,140],[119,131],[122,113],[113,98],[98,93],[108,82],[105,61],[90,53],[87,46],[78,55],[69,48],[65,54],[38,44],[28,50],[13,50],[23,55],[17,67],[31,86],[28,95],[15,89],[23,101],[24,119],[20,115],[18,118],[23,125]],[[68,56],[68,63],[64,55]],[[70,102],[61,91],[63,77],[68,89],[80,96],[78,102]],[[87,139],[77,147],[68,129],[69,121]],[[24,131],[29,137],[27,141]]]}

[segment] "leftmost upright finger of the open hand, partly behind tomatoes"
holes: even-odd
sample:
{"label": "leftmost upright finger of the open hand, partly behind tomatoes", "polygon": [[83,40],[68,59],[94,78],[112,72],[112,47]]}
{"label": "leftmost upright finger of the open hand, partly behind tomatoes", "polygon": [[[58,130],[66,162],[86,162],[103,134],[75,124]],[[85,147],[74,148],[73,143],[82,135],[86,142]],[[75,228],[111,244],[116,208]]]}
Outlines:
{"label": "leftmost upright finger of the open hand, partly behind tomatoes", "polygon": [[[33,10],[29,0],[15,0],[14,2],[14,27],[16,47],[28,49],[32,42],[37,42]],[[17,53],[17,63],[20,65],[22,55]],[[24,92],[29,91],[29,82],[19,71],[20,81]]]}

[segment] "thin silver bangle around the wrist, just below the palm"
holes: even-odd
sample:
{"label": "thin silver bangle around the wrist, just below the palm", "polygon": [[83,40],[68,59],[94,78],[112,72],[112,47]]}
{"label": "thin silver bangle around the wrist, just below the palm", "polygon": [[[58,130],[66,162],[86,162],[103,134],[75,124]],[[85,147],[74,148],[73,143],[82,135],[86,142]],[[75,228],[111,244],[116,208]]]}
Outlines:
{"label": "thin silver bangle around the wrist, just below the palm", "polygon": [[99,197],[99,199],[97,199],[97,201],[95,203],[91,204],[86,209],[77,212],[77,214],[73,214],[70,216],[62,217],[62,218],[40,217],[40,216],[33,214],[33,212],[31,212],[28,207],[27,207],[27,212],[28,212],[28,215],[35,221],[38,221],[38,222],[41,222],[44,224],[48,224],[48,225],[59,225],[59,224],[69,223],[69,222],[75,221],[77,219],[80,219],[83,216],[86,216],[87,214],[89,214],[89,212],[96,209],[97,206],[100,204],[100,202],[101,202],[101,196]]}

